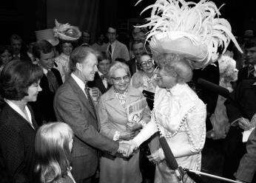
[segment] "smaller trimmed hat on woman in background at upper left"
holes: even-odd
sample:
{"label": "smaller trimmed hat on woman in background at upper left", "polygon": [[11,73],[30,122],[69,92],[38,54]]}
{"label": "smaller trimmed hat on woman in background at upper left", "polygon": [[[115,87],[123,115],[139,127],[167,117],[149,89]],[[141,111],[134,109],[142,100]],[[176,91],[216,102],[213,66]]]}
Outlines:
{"label": "smaller trimmed hat on woman in background at upper left", "polygon": [[65,41],[76,41],[81,37],[81,31],[78,27],[71,26],[70,24],[61,24],[55,19],[55,27],[53,32],[56,37]]}

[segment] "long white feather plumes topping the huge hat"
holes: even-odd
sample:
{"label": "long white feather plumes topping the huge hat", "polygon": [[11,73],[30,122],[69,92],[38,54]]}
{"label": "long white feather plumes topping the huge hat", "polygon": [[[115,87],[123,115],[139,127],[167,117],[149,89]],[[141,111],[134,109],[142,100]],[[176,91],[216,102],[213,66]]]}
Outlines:
{"label": "long white feather plumes topping the huge hat", "polygon": [[149,27],[146,41],[150,43],[153,37],[167,36],[172,40],[184,37],[195,46],[205,45],[208,52],[206,58],[198,63],[200,67],[217,60],[219,46],[226,52],[230,40],[242,52],[229,21],[219,18],[220,11],[212,1],[157,0],[141,13],[149,9],[152,9],[151,17],[146,18],[146,24],[138,26]]}

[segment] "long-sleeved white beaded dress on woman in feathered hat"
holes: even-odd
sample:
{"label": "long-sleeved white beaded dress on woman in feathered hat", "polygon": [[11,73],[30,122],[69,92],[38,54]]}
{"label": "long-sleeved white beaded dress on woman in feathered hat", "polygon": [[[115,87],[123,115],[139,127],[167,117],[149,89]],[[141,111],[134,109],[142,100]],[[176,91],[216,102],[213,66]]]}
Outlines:
{"label": "long-sleeved white beaded dress on woman in feathered hat", "polygon": [[[186,83],[178,83],[172,89],[156,88],[152,120],[133,139],[141,145],[158,129],[182,168],[201,170],[201,151],[206,138],[206,105]],[[155,183],[178,182],[175,172],[166,161],[155,170]],[[192,182],[187,176],[183,182]]]}

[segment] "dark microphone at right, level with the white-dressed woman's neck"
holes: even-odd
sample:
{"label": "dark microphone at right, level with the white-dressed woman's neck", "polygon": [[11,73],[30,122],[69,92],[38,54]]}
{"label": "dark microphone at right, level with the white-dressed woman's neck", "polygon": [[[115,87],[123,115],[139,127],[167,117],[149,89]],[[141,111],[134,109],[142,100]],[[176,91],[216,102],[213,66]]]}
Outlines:
{"label": "dark microphone at right, level with the white-dressed woman's neck", "polygon": [[220,94],[221,96],[228,98],[229,97],[229,90],[225,89],[222,86],[218,86],[215,83],[209,82],[208,80],[204,80],[203,78],[199,77],[197,83],[203,86],[205,89],[209,89],[216,94]]}

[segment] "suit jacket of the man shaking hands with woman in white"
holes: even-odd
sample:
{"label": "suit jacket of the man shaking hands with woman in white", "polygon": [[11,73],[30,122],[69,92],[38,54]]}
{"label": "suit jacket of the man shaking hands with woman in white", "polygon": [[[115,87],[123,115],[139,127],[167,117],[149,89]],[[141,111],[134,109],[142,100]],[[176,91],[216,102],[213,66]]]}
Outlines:
{"label": "suit jacket of the man shaking hands with woman in white", "polygon": [[86,95],[73,77],[58,89],[54,98],[58,121],[66,122],[74,131],[72,173],[75,180],[93,176],[98,165],[98,150],[118,151],[118,142],[99,134],[100,123]]}

